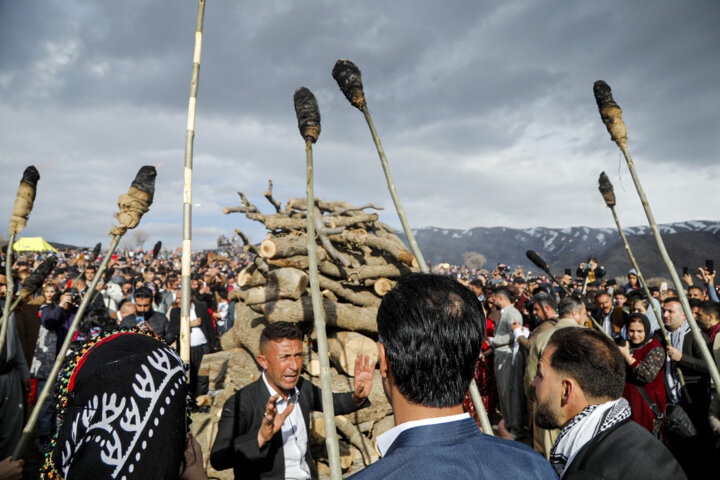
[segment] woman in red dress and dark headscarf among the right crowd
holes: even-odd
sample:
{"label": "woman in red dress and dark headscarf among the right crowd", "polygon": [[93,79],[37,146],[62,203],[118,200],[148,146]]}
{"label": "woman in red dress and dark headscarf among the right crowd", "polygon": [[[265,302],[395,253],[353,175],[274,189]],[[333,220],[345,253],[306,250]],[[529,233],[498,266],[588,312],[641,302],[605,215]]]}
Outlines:
{"label": "woman in red dress and dark headscarf among the right crowd", "polygon": [[665,411],[667,403],[665,350],[651,337],[650,321],[642,313],[630,314],[625,329],[628,339],[620,345],[627,364],[623,397],[630,403],[631,418],[660,438],[662,422],[657,417]]}

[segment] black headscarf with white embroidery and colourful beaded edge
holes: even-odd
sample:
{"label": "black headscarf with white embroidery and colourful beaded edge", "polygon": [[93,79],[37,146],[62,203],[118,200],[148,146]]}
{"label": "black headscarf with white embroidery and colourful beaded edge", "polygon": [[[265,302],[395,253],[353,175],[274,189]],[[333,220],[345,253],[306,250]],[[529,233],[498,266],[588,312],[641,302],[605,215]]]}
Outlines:
{"label": "black headscarf with white embroidery and colourful beaded edge", "polygon": [[45,478],[178,478],[187,387],[165,343],[137,331],[107,334],[78,351],[58,382]]}

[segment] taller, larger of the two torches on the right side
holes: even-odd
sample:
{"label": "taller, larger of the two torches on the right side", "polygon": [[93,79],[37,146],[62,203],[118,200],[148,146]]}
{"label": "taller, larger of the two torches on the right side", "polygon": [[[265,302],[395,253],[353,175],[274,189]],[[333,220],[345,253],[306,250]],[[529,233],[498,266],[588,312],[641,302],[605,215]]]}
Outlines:
{"label": "taller, larger of the two torches on the right side", "polygon": [[700,348],[702,358],[705,360],[708,370],[710,371],[710,376],[715,384],[715,391],[720,392],[720,373],[718,372],[717,365],[715,365],[715,361],[712,358],[710,350],[703,339],[702,332],[700,331],[700,328],[695,321],[695,317],[692,314],[690,302],[688,302],[687,295],[685,295],[685,289],[683,288],[680,277],[675,270],[675,265],[667,253],[665,242],[660,235],[660,229],[658,229],[657,223],[655,222],[655,217],[652,213],[652,209],[650,208],[650,203],[645,196],[645,191],[640,184],[640,178],[635,170],[635,164],[630,156],[630,151],[628,150],[627,145],[627,127],[622,119],[622,109],[617,103],[615,103],[612,96],[612,90],[604,81],[598,80],[595,82],[593,85],[593,93],[595,94],[595,100],[597,101],[598,109],[600,110],[600,117],[610,133],[610,138],[617,144],[625,157],[628,169],[630,170],[630,175],[632,176],[633,183],[635,184],[635,189],[640,197],[640,203],[642,203],[643,209],[645,210],[645,216],[650,224],[650,230],[653,232],[653,237],[655,237],[655,242],[657,243],[658,250],[660,251],[660,256],[662,257],[663,262],[665,262],[665,267],[667,268],[673,284],[675,285],[675,289],[678,292],[678,297],[680,298],[680,304],[682,305],[683,312],[685,313],[685,318],[690,325],[690,330],[695,338],[695,342]]}

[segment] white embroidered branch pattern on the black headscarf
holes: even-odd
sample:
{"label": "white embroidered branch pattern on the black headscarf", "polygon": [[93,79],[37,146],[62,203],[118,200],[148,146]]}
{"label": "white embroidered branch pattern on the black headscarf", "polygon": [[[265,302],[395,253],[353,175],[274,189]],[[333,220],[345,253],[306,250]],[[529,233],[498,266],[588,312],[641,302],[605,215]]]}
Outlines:
{"label": "white embroidered branch pattern on the black headscarf", "polygon": [[[176,366],[171,366],[170,356],[176,360]],[[165,412],[165,407],[161,405],[160,400],[165,399],[166,405],[170,404],[170,397],[180,391],[179,387],[185,382],[185,372],[182,367],[182,361],[178,355],[169,348],[163,348],[153,351],[146,357],[147,363],[140,366],[141,372],[135,374],[135,381],[132,384],[133,391],[140,404],[143,405],[149,401],[144,411],[138,406],[135,396],[121,396],[112,393],[108,395],[103,393],[102,398],[93,396],[90,401],[75,415],[72,422],[70,440],[65,441],[62,451],[62,471],[63,476],[67,477],[70,468],[70,462],[83,443],[95,442],[101,447],[101,459],[106,465],[114,466],[111,477],[117,478],[118,474],[125,469],[132,473],[135,469],[135,463],[140,460],[140,450],[145,450],[147,442],[145,440],[140,444],[140,449],[135,452],[131,458],[130,455],[136,450],[137,442],[147,433],[148,437],[153,436],[153,426],[157,427],[159,420]],[[161,374],[159,385],[155,385],[153,372]],[[172,384],[171,384],[172,382]],[[170,387],[170,388],[169,388]],[[169,391],[163,395],[166,389]],[[157,412],[155,411],[157,407]],[[150,421],[151,426],[146,431],[146,426]],[[85,434],[82,438],[77,438],[78,426],[82,424],[85,427]],[[130,442],[123,445],[118,430],[122,430],[131,434]],[[121,477],[124,480],[126,477]]]}

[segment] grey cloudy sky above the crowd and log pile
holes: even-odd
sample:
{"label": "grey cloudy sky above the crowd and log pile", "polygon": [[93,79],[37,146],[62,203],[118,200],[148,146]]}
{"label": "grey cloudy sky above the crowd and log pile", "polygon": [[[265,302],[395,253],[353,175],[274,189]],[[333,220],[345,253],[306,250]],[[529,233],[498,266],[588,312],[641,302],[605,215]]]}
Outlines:
{"label": "grey cloudy sky above the crowd and log pile", "polygon": [[[196,14],[191,0],[0,0],[0,219],[34,164],[23,235],[106,244],[118,195],[140,166],[159,165],[139,228],[149,244],[180,244]],[[612,226],[602,170],[621,221],[644,224],[597,113],[598,79],[624,109],[656,219],[720,220],[718,24],[714,0],[210,0],[193,246],[236,227],[263,238],[259,224],[222,215],[238,190],[266,212],[269,178],[277,199],[305,196],[299,86],[323,119],[317,196],[383,205],[399,226],[362,114],[330,75],[343,57],[363,72],[413,227]]]}

